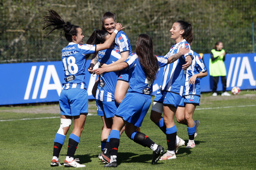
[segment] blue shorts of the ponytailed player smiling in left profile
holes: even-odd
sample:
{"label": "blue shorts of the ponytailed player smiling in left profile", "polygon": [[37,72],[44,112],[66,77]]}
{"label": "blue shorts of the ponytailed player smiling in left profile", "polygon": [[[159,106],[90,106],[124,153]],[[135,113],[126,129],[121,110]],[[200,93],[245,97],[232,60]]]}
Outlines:
{"label": "blue shorts of the ponytailed player smiling in left profile", "polygon": [[172,92],[163,92],[163,105],[178,107],[182,96]]}

